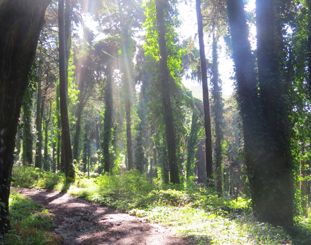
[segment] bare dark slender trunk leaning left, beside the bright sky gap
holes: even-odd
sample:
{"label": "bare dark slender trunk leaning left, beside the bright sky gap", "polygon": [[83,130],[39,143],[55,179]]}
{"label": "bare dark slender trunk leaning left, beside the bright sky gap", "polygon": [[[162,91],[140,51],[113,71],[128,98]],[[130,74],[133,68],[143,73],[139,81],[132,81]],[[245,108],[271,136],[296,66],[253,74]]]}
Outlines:
{"label": "bare dark slender trunk leaning left, beside the bright sky gap", "polygon": [[205,57],[205,46],[203,39],[203,21],[201,13],[201,0],[196,0],[196,12],[197,12],[197,28],[199,35],[199,47],[200,47],[200,62],[201,62],[201,77],[203,88],[203,108],[204,108],[204,128],[205,128],[205,164],[206,164],[206,176],[207,186],[214,187],[213,179],[213,158],[212,158],[212,134],[211,134],[211,115],[210,115],[210,102],[208,95],[207,85],[207,64]]}

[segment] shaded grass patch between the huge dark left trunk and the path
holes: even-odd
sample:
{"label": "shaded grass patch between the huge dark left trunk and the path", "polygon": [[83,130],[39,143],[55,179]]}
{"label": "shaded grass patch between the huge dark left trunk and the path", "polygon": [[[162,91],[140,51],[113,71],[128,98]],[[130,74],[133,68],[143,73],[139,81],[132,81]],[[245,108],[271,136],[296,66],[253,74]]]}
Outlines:
{"label": "shaded grass patch between the huge dark left trunk and the path", "polygon": [[11,190],[9,211],[11,230],[1,238],[0,244],[58,245],[63,242],[62,238],[51,232],[55,225],[48,210],[16,190]]}

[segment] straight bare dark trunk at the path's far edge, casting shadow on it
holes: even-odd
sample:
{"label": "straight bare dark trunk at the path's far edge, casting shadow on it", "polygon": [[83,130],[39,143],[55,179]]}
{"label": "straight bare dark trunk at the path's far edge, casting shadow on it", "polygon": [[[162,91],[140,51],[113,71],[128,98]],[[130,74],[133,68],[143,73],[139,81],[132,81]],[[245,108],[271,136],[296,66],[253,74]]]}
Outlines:
{"label": "straight bare dark trunk at the path's far edge, casting shadow on it", "polygon": [[66,177],[74,178],[73,156],[70,140],[70,128],[67,104],[67,70],[66,47],[65,47],[65,25],[64,25],[64,0],[58,1],[58,28],[59,28],[59,98],[62,125],[62,152],[61,161],[64,166]]}

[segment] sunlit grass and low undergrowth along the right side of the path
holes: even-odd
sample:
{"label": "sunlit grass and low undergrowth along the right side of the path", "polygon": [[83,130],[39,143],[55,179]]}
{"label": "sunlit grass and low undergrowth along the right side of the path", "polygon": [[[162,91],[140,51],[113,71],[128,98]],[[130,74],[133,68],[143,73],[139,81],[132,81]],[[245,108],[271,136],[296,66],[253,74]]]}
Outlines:
{"label": "sunlit grass and low undergrowth along the right side of the path", "polygon": [[[44,177],[41,179],[45,183]],[[197,244],[311,244],[310,218],[296,217],[295,230],[291,232],[258,223],[252,215],[250,200],[219,198],[214,190],[199,188],[193,181],[163,184],[146,178],[137,170],[89,178],[77,172],[71,185],[63,178],[55,183],[56,179],[54,177],[53,184],[49,185],[54,189],[66,187],[70,194],[88,201],[171,226],[176,234],[191,238]],[[44,186],[39,182],[35,184],[37,188]]]}

